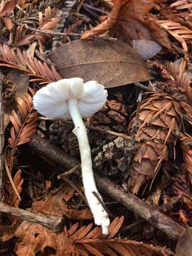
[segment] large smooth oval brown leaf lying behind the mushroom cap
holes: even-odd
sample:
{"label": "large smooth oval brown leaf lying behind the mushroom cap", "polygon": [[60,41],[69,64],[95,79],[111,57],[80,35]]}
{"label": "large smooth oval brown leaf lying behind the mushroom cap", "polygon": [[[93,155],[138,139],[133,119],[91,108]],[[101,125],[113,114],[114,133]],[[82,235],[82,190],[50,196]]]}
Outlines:
{"label": "large smooth oval brown leaf lying behind the mushroom cap", "polygon": [[120,41],[100,38],[72,41],[58,47],[50,58],[63,78],[97,80],[105,87],[151,79],[144,60]]}

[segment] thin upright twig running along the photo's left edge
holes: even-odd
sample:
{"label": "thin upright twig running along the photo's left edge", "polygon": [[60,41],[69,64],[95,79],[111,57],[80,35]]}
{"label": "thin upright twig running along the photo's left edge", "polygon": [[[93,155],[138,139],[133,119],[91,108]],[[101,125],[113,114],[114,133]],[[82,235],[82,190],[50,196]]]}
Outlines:
{"label": "thin upright twig running along the photo's left edge", "polygon": [[3,76],[0,73],[0,202],[3,198],[3,171],[4,171],[4,109],[3,109]]}

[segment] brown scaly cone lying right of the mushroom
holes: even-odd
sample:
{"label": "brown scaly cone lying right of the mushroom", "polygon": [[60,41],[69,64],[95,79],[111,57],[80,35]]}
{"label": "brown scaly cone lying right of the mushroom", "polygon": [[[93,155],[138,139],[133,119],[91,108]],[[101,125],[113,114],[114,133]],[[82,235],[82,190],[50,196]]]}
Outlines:
{"label": "brown scaly cone lying right of the mushroom", "polygon": [[162,162],[168,159],[173,132],[179,131],[180,121],[180,105],[166,93],[154,93],[139,105],[129,124],[129,132],[136,141],[127,180],[127,188],[133,193],[154,178]]}

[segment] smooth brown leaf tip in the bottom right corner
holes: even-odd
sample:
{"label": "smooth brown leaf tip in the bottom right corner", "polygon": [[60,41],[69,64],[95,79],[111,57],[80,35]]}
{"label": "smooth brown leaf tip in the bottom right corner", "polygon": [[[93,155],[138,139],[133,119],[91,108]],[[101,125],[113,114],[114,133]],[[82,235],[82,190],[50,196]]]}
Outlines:
{"label": "smooth brown leaf tip in the bottom right corner", "polygon": [[178,239],[176,245],[176,256],[192,256],[192,229],[187,228],[186,231]]}

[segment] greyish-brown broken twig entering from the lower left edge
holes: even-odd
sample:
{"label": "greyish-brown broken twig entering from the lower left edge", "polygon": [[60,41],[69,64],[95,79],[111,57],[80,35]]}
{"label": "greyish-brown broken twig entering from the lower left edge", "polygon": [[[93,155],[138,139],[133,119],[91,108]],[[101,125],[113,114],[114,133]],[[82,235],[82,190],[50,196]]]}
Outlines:
{"label": "greyish-brown broken twig entering from the lower left edge", "polygon": [[30,213],[27,210],[22,210],[20,208],[14,208],[11,206],[7,206],[5,203],[0,202],[0,212],[9,213],[11,215],[18,216],[23,220],[27,220],[31,223],[38,223],[43,225],[45,228],[49,228],[54,232],[59,232],[63,225],[63,218],[62,217],[46,217],[37,215],[36,213]]}

